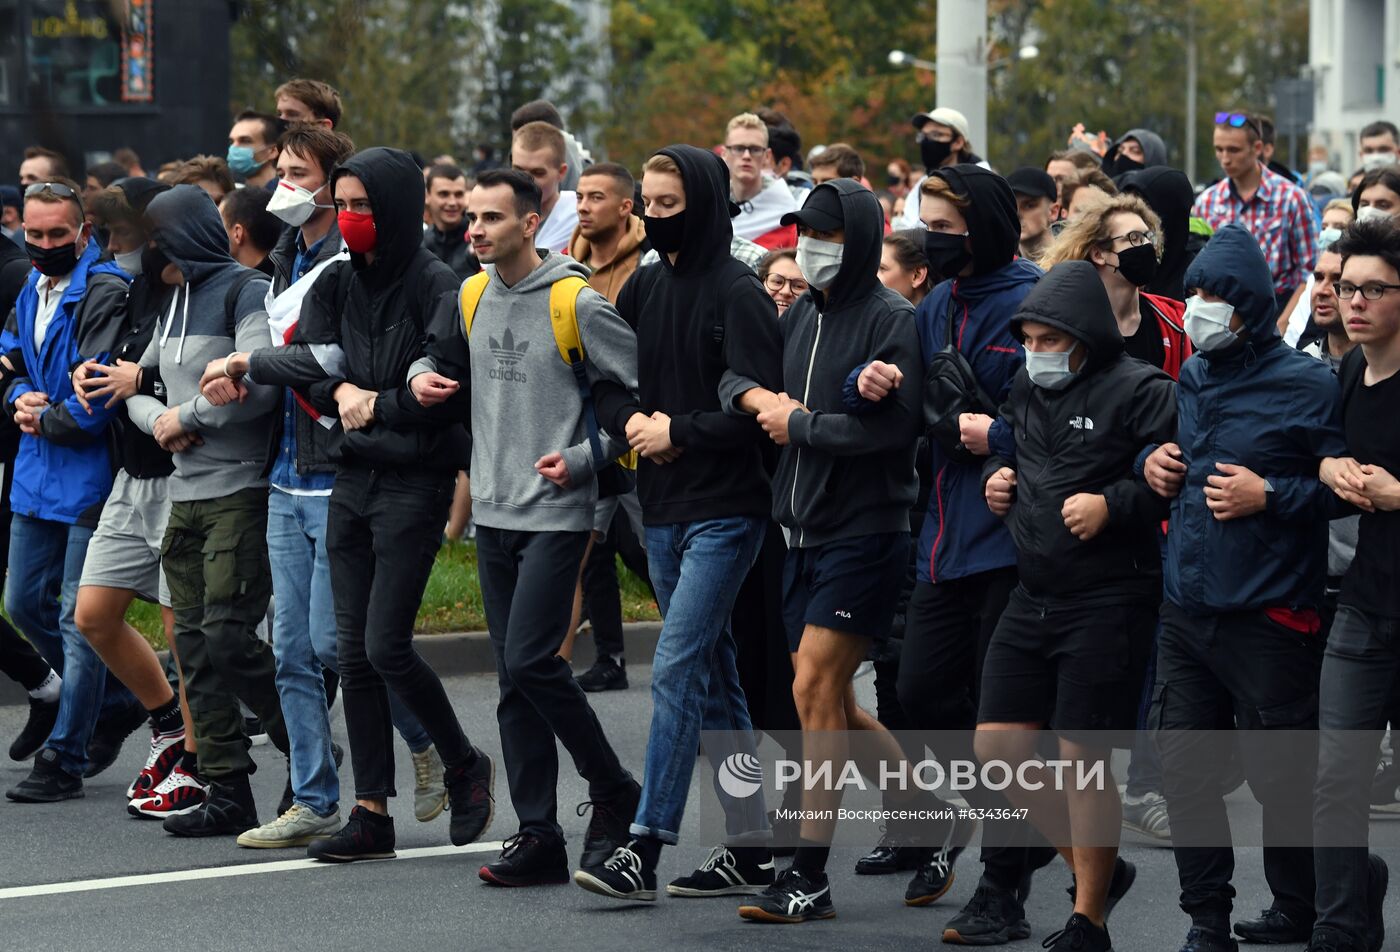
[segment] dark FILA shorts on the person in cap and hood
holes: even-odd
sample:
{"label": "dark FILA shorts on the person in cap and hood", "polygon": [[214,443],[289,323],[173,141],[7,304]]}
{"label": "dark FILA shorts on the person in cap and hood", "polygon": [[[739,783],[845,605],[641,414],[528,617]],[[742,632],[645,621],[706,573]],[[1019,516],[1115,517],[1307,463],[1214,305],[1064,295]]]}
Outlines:
{"label": "dark FILA shorts on the person in cap and hood", "polygon": [[783,627],[797,651],[815,624],[864,638],[888,638],[909,568],[907,532],[788,549],[783,564]]}

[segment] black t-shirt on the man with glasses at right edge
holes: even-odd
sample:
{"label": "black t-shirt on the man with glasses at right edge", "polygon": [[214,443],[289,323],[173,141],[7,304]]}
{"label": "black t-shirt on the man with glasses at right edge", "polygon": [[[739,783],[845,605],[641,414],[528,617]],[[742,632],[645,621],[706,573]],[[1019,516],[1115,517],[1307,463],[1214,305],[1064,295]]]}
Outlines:
{"label": "black t-shirt on the man with glasses at right edge", "polygon": [[[1365,357],[1357,347],[1351,360],[1358,367],[1345,377],[1344,427],[1347,452],[1357,462],[1383,466],[1400,476],[1400,374],[1392,374],[1373,386],[1365,385]],[[1341,582],[1341,602],[1372,615],[1400,619],[1400,511],[1362,512],[1357,538],[1357,557]]]}

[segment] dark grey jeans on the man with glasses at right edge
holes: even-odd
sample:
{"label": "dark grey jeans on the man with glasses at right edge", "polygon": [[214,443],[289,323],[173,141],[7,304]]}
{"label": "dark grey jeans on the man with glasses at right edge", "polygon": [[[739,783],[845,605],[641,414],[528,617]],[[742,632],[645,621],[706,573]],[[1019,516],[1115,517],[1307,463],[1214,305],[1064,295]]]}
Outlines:
{"label": "dark grey jeans on the man with glasses at right edge", "polygon": [[[1323,843],[1364,844],[1368,836],[1368,794],[1376,769],[1380,735],[1396,699],[1400,673],[1400,622],[1341,605],[1322,662],[1317,721],[1315,832]],[[1365,846],[1319,846],[1317,925],[1366,945]]]}

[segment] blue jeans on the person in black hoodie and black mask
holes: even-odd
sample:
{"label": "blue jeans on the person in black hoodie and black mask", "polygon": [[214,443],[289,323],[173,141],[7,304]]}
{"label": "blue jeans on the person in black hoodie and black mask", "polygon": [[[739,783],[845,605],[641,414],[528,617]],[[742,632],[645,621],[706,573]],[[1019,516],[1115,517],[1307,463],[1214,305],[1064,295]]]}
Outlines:
{"label": "blue jeans on the person in black hoodie and black mask", "polygon": [[[634,836],[678,841],[700,731],[728,735],[728,743],[707,745],[717,767],[728,753],[753,753],[729,613],[766,529],[766,519],[749,517],[647,526],[647,566],[662,624],[651,669],[651,732]],[[769,839],[762,794],[732,799],[715,792],[731,846]]]}

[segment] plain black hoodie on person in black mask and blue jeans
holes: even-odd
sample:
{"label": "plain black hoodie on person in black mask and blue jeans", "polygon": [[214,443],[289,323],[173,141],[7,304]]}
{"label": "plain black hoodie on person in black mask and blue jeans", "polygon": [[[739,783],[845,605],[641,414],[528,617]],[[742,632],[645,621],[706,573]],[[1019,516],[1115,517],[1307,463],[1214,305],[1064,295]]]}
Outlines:
{"label": "plain black hoodie on person in black mask and blue jeans", "polygon": [[[729,255],[729,169],[694,146],[662,148],[686,188],[685,238],[676,262],[668,255],[637,270],[623,286],[617,311],[637,332],[638,400],[599,400],[603,426],[626,431],[633,413],[671,417],[671,442],[683,452],[672,463],[641,461],[637,493],[647,525],[725,517],[769,517],[767,437],[753,417],[724,412],[728,372],[777,392],[783,342],[777,308],[753,270]],[[847,368],[850,370],[850,368]]]}

